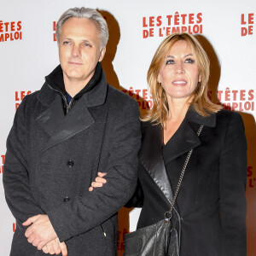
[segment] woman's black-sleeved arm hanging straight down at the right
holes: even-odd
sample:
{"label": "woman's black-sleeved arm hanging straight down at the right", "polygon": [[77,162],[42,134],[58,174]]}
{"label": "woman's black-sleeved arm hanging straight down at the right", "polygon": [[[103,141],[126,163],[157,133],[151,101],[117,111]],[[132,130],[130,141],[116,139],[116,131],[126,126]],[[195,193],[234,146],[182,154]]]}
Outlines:
{"label": "woman's black-sleeved arm hanging straight down at the right", "polygon": [[219,160],[219,190],[224,255],[246,256],[247,141],[241,115],[230,113]]}

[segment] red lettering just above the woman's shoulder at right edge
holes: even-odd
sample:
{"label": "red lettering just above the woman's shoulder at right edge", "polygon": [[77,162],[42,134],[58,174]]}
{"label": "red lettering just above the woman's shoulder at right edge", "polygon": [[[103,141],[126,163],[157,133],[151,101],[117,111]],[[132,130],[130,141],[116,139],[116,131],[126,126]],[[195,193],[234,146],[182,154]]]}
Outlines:
{"label": "red lettering just above the woman's shoulder at right edge", "polygon": [[[209,91],[210,98],[212,92]],[[225,90],[217,90],[218,101],[223,104],[224,108],[232,111],[254,111],[255,100],[254,90],[232,90],[227,87]]]}

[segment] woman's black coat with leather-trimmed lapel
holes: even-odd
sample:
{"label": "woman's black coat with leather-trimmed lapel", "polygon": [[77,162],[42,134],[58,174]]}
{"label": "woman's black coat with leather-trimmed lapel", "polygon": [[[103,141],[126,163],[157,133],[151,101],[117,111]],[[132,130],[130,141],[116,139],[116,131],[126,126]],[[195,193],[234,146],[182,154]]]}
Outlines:
{"label": "woman's black coat with leather-trimmed lapel", "polygon": [[221,110],[202,117],[189,109],[163,151],[160,125],[145,126],[138,170],[143,209],[137,228],[164,218],[193,148],[174,212],[180,255],[246,256],[247,143],[241,116]]}

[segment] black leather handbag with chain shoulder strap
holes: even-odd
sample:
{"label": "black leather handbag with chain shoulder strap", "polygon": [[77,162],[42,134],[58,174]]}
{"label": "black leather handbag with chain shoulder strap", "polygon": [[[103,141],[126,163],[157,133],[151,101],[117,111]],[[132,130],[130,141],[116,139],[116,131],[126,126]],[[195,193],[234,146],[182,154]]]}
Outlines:
{"label": "black leather handbag with chain shoulder strap", "polygon": [[[203,125],[197,131],[199,136]],[[165,213],[165,218],[156,224],[136,230],[125,235],[125,253],[123,256],[178,256],[179,239],[177,230],[172,227],[172,210],[183,180],[183,175],[193,152],[191,149],[183,164],[183,170],[177,183],[177,189],[172,199],[171,209]]]}

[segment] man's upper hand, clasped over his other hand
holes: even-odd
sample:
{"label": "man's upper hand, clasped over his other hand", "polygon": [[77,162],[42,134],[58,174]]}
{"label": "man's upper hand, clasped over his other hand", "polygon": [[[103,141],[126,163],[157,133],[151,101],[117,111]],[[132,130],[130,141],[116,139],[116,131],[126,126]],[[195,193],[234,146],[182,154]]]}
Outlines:
{"label": "man's upper hand, clasped over his other hand", "polygon": [[27,237],[28,242],[32,243],[34,247],[38,247],[38,250],[42,250],[49,241],[52,241],[57,237],[55,230],[49,221],[49,217],[46,214],[32,216],[31,218],[27,218],[23,223],[24,226],[30,224],[32,225],[27,228],[25,236]]}

